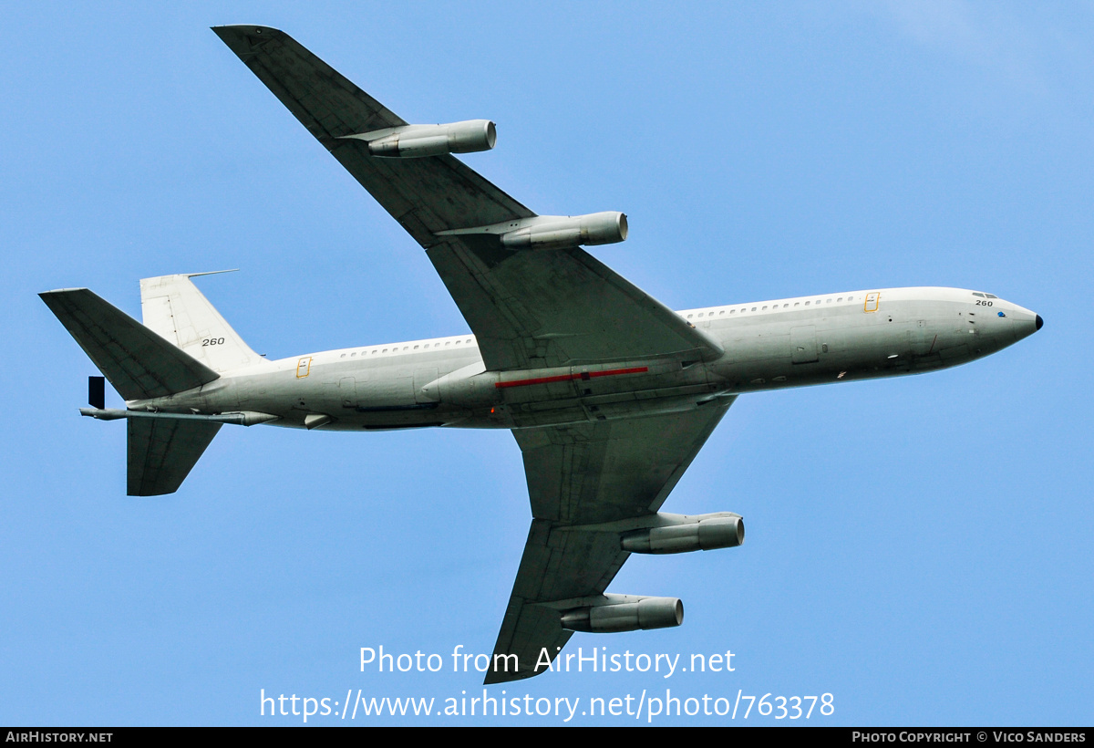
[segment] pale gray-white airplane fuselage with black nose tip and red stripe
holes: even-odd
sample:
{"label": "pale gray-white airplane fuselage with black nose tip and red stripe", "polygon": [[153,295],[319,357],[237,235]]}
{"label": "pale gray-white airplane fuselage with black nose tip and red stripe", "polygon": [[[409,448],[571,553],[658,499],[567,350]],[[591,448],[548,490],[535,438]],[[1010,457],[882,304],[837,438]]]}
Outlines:
{"label": "pale gray-white airplane fuselage with black nose tip and red stripe", "polygon": [[[473,335],[263,361],[129,407],[257,412],[280,426],[520,428],[686,411],[744,392],[932,371],[1004,348],[1039,318],[953,288],[889,288],[679,312],[715,341],[675,356],[487,371]],[[322,417],[327,416],[327,417]]]}

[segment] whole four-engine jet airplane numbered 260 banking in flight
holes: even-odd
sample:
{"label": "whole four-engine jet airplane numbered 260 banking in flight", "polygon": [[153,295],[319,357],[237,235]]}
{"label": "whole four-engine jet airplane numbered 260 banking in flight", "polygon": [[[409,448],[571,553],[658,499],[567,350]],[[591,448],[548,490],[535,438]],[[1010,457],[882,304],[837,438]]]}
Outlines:
{"label": "whole four-engine jet airplane numbered 260 banking in flight", "polygon": [[660,511],[742,394],[921,373],[1040,330],[992,294],[881,288],[672,311],[584,246],[621,212],[539,216],[453,153],[492,122],[412,125],[288,34],[216,34],[422,246],[473,335],[267,360],[191,278],[141,280],[142,323],[85,288],[40,295],[102,377],[81,414],[128,424],[127,491],[178,490],[224,424],[511,429],[532,526],[486,683],[546,670],[575,631],[677,626],[677,598],[607,592],[631,553],[733,548],[732,511]]}

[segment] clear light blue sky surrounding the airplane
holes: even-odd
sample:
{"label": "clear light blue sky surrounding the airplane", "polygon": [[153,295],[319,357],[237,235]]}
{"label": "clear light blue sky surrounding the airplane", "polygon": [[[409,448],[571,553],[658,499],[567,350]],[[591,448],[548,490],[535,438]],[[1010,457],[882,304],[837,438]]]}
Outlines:
{"label": "clear light blue sky surrounding the airplane", "polygon": [[[497,148],[465,161],[540,214],[627,212],[628,241],[595,254],[674,308],[938,285],[1045,318],[957,369],[734,405],[665,509],[738,511],[745,545],[633,556],[610,591],[680,597],[684,625],[569,645],[732,651],[733,672],[547,674],[507,698],[580,698],[571,724],[633,724],[580,712],[666,688],[834,694],[812,724],[1091,723],[1091,5],[4,15],[0,722],[300,724],[261,716],[260,692],[481,695],[451,653],[490,651],[524,544],[511,435],[225,427],[178,493],[131,498],[125,427],[77,414],[95,371],[36,298],[51,288],[139,315],[139,278],[241,267],[199,284],[270,358],[467,330],[420,249],[208,30],[245,22],[405,119],[494,119]],[[446,667],[361,672],[380,645]],[[351,722],[562,717],[309,724]],[[654,717],[708,722],[788,721]]]}

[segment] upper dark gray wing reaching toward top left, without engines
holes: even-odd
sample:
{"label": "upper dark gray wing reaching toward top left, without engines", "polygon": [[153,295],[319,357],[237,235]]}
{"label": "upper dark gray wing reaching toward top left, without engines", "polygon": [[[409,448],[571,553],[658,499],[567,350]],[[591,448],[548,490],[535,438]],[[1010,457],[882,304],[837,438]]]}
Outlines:
{"label": "upper dark gray wing reaching toward top left, without engines", "polygon": [[721,354],[717,342],[580,248],[513,251],[497,237],[437,235],[535,214],[452,156],[379,158],[347,139],[407,123],[288,34],[213,31],[427,250],[488,369]]}

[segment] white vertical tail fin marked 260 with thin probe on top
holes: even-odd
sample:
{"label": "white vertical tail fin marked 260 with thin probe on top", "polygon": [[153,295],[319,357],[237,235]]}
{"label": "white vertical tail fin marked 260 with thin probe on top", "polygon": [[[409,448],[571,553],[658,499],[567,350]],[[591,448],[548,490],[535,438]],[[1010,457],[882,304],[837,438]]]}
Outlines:
{"label": "white vertical tail fin marked 260 with thin probe on top", "polygon": [[212,274],[161,275],[141,280],[144,325],[220,373],[265,361],[194,285],[190,278],[198,275]]}

